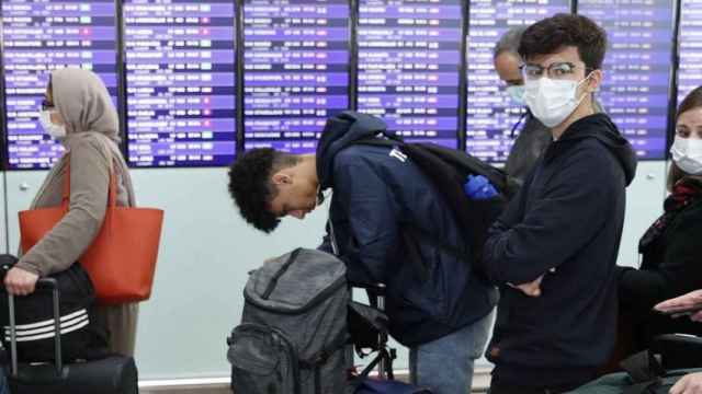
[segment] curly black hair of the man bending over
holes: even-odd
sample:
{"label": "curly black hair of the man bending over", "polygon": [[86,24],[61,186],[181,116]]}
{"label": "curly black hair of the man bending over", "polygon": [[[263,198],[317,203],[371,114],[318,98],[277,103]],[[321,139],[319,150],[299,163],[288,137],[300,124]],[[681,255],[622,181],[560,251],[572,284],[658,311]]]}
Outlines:
{"label": "curly black hair of the man bending over", "polygon": [[269,210],[269,204],[278,195],[278,188],[271,176],[296,163],[295,155],[270,148],[252,149],[231,163],[229,194],[247,222],[267,233],[275,230],[280,219]]}

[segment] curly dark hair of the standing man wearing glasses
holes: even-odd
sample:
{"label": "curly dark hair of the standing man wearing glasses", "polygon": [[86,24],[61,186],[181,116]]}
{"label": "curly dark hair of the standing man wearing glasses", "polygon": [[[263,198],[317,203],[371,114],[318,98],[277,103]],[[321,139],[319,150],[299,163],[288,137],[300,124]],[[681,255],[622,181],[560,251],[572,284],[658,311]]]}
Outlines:
{"label": "curly dark hair of the standing man wearing glasses", "polygon": [[578,48],[589,70],[601,69],[607,51],[607,33],[587,16],[559,13],[524,31],[519,55],[528,60],[534,56],[554,54],[566,46]]}

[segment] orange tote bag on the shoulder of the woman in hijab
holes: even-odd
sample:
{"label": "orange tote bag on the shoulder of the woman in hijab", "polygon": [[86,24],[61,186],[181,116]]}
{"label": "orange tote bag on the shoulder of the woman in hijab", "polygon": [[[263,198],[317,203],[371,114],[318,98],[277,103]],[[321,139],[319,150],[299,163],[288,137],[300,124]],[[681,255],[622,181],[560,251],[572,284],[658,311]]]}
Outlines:
{"label": "orange tote bag on the shoulder of the woman in hijab", "polygon": [[[70,164],[61,205],[20,212],[22,251],[27,253],[68,212]],[[151,294],[163,211],[117,207],[117,181],[110,172],[107,209],[100,232],[78,258],[95,288],[98,302],[117,304],[147,300]]]}

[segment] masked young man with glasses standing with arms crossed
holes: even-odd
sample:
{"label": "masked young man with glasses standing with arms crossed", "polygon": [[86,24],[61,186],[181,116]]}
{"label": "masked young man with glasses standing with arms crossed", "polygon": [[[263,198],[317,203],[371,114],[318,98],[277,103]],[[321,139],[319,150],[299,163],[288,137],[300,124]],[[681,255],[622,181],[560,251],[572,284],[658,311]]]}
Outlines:
{"label": "masked young man with glasses standing with arms crossed", "polygon": [[491,394],[562,393],[592,379],[614,345],[615,263],[635,154],[592,94],[605,33],[581,15],[530,26],[524,100],[553,142],[492,225],[485,271],[501,288]]}

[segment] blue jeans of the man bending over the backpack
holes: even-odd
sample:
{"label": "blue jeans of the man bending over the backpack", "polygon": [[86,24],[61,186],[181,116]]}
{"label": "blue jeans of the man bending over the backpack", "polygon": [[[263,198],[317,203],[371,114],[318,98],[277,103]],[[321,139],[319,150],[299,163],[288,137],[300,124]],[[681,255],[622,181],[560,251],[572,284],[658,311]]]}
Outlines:
{"label": "blue jeans of the man bending over the backpack", "polygon": [[412,384],[433,394],[466,394],[473,386],[473,366],[485,351],[492,313],[455,333],[409,349]]}

